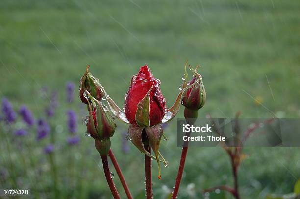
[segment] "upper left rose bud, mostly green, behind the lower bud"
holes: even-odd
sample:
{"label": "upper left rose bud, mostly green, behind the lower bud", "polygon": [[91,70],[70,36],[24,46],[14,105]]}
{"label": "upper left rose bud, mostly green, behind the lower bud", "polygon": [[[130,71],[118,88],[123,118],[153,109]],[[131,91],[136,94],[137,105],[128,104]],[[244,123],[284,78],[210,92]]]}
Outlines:
{"label": "upper left rose bud, mostly green, behind the lower bud", "polygon": [[89,68],[90,65],[87,66],[86,72],[79,83],[79,97],[84,104],[88,104],[87,99],[83,95],[86,90],[97,100],[101,100],[104,96],[99,80],[90,73]]}

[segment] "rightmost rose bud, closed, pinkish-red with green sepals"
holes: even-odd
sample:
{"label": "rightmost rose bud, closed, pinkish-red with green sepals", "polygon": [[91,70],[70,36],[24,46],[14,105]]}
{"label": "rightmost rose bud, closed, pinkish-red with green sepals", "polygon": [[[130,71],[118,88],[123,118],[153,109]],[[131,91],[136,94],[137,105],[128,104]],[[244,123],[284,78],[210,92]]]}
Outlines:
{"label": "rightmost rose bud, closed, pinkish-red with green sepals", "polygon": [[196,69],[192,69],[193,70],[194,75],[193,75],[193,79],[189,82],[186,82],[186,78],[187,78],[187,73],[185,73],[185,82],[183,83],[183,88],[192,85],[192,88],[189,88],[183,96],[182,99],[182,103],[183,106],[185,106],[187,109],[190,110],[199,110],[201,109],[206,101],[206,92],[205,92],[205,88],[202,82],[202,76],[200,74],[197,73],[197,68]]}

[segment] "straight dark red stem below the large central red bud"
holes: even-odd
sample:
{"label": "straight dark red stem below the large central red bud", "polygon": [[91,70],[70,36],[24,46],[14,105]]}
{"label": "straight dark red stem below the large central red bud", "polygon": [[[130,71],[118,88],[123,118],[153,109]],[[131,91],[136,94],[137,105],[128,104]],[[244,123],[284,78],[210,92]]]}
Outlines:
{"label": "straight dark red stem below the large central red bud", "polygon": [[[151,147],[145,145],[145,149],[151,154]],[[151,157],[145,155],[145,182],[146,182],[146,199],[152,199],[152,173]]]}

